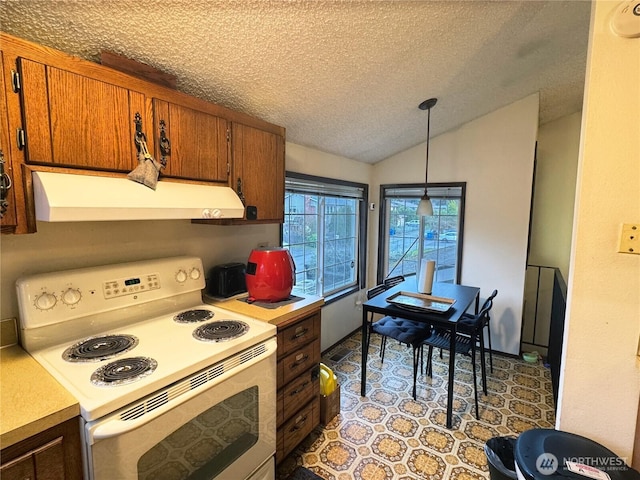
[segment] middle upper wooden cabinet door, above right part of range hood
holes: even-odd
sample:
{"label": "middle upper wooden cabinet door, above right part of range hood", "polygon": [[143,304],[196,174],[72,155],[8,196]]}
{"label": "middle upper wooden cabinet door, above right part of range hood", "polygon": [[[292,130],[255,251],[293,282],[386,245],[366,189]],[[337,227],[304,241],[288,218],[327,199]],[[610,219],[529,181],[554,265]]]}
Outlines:
{"label": "middle upper wooden cabinet door, above right part of range hood", "polygon": [[158,99],[153,100],[153,114],[156,158],[162,158],[160,122],[171,147],[163,175],[227,184],[229,147],[224,118]]}

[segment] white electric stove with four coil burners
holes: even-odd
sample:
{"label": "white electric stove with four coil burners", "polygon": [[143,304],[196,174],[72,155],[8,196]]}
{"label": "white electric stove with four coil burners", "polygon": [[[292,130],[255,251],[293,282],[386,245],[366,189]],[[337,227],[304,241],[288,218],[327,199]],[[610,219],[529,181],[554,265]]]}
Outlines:
{"label": "white electric stove with four coil burners", "polygon": [[[18,280],[22,345],[77,398],[89,478],[153,478],[176,459],[175,478],[272,478],[276,327],[204,304],[203,271],[174,257]],[[203,415],[235,415],[239,433]],[[186,428],[206,433],[160,458]]]}

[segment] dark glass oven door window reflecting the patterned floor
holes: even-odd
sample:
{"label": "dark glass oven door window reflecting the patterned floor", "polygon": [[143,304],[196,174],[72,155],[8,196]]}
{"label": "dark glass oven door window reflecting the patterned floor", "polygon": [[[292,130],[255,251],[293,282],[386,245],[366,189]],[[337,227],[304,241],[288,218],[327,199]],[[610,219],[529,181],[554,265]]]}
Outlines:
{"label": "dark glass oven door window reflecting the patterned floor", "polygon": [[206,410],[138,460],[140,480],[214,479],[257,441],[258,387]]}

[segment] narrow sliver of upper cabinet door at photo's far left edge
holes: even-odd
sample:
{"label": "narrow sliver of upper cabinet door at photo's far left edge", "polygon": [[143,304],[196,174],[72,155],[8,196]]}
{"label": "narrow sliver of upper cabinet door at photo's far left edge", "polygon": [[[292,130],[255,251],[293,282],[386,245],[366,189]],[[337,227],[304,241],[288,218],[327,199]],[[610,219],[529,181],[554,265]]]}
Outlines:
{"label": "narrow sliver of upper cabinet door at photo's far left edge", "polygon": [[0,225],[2,231],[12,232],[17,225],[15,188],[13,187],[13,164],[11,162],[11,150],[9,145],[9,117],[7,114],[7,93],[5,91],[5,75],[9,69],[5,68],[4,57],[0,52],[0,167],[2,185],[4,187],[6,203],[2,206]]}

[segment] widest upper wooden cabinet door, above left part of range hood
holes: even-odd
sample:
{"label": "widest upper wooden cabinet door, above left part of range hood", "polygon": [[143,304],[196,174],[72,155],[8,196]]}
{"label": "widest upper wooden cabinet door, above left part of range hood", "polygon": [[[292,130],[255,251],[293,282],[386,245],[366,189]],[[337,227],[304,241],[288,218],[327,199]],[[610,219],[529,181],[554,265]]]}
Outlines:
{"label": "widest upper wooden cabinet door, above left part of range hood", "polygon": [[19,68],[28,163],[135,168],[134,116],[145,119],[144,94],[24,58]]}

